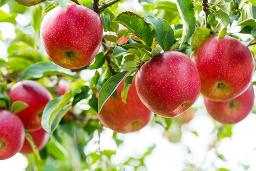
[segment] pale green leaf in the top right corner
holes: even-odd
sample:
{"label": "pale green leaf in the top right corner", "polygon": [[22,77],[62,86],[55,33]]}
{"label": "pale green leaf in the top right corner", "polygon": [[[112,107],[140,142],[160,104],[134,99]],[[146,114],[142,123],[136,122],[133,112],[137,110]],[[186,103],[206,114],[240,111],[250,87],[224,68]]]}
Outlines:
{"label": "pale green leaf in the top right corner", "polygon": [[237,26],[256,27],[256,21],[253,18],[251,3],[244,4],[240,9],[241,15],[238,19]]}

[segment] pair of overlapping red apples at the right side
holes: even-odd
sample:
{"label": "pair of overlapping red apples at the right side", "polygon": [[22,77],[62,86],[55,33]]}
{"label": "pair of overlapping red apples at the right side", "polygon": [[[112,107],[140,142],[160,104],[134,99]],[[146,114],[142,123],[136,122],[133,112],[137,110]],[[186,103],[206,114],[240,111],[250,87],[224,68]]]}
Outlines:
{"label": "pair of overlapping red apples at the right side", "polygon": [[194,53],[206,110],[222,124],[236,124],[253,109],[254,60],[241,41],[210,37]]}

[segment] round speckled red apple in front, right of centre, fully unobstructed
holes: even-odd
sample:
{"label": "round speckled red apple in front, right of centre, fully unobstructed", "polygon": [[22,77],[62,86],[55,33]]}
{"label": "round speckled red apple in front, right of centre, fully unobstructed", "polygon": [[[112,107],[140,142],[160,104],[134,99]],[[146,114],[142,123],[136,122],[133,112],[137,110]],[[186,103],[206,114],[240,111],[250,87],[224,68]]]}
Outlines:
{"label": "round speckled red apple in front, right of centre, fully unobstructed", "polygon": [[200,78],[188,56],[167,51],[147,61],[136,75],[141,102],[154,113],[175,117],[198,99]]}

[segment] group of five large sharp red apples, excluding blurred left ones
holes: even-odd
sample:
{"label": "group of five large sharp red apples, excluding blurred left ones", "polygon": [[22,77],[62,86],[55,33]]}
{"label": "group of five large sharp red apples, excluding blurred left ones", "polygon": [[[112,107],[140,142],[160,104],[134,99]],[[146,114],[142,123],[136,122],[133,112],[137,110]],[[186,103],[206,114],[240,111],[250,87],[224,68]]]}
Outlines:
{"label": "group of five large sharp red apples, excluding blurred left ones", "polygon": [[[42,45],[64,68],[89,64],[99,50],[102,33],[95,12],[71,3],[67,12],[60,7],[48,12],[41,24]],[[121,98],[122,81],[116,99],[111,96],[97,115],[115,132],[133,132],[147,125],[153,112],[164,117],[180,115],[201,92],[212,117],[223,124],[234,124],[252,109],[253,88],[247,88],[253,72],[254,61],[247,46],[231,37],[218,41],[214,36],[197,48],[193,60],[183,53],[167,51],[147,61],[131,84],[127,103]]]}

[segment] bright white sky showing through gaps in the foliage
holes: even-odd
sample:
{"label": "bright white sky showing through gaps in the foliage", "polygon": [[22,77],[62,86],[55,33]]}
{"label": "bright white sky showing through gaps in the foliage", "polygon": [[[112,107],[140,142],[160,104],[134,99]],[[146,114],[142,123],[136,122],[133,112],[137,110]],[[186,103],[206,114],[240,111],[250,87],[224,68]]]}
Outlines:
{"label": "bright white sky showing through gaps in the foliage", "polygon": [[[127,5],[123,3],[122,5]],[[133,5],[137,10],[141,10],[142,7],[137,3]],[[9,13],[10,9],[7,5],[0,8],[1,10]],[[29,15],[18,14],[16,17],[17,22],[20,25],[26,26],[30,22]],[[15,38],[14,27],[11,23],[0,23],[0,31],[2,32],[2,38]],[[236,28],[231,30],[236,31]],[[243,36],[243,40],[248,37]],[[7,56],[7,46],[0,40],[0,58]],[[85,78],[87,74],[93,76],[94,71],[83,71],[81,77]],[[256,78],[253,78],[256,81]],[[255,89],[256,87],[254,87]],[[180,143],[170,143],[167,138],[163,137],[163,128],[161,126],[151,127],[146,126],[139,132],[118,134],[120,139],[123,139],[123,144],[117,149],[117,146],[112,139],[113,131],[105,129],[101,134],[100,148],[101,150],[117,150],[117,154],[112,157],[112,162],[118,164],[125,161],[131,156],[140,156],[147,151],[154,143],[156,148],[153,150],[150,156],[145,158],[145,163],[148,171],[156,170],[172,170],[180,171],[184,168],[185,162],[193,163],[202,168],[207,168],[212,162],[220,167],[228,168],[232,171],[243,170],[242,165],[250,165],[248,171],[256,170],[256,114],[249,114],[249,116],[240,123],[233,126],[231,138],[223,138],[218,152],[226,158],[226,162],[217,158],[215,151],[208,152],[208,144],[216,137],[211,134],[215,128],[214,123],[208,116],[204,106],[203,98],[200,96],[195,107],[200,108],[193,120],[188,124],[182,126],[182,138]],[[198,136],[191,133],[194,130],[198,133]],[[98,136],[95,132],[94,138],[88,143],[88,146],[84,151],[86,154],[94,152],[98,149]],[[188,145],[191,154],[187,154],[186,146]],[[21,154],[16,154],[14,157],[0,161],[1,171],[24,171],[28,162],[26,158]],[[132,170],[131,168],[125,168],[126,171]],[[216,169],[208,168],[207,171],[215,171]],[[142,171],[142,170],[140,170]]]}

